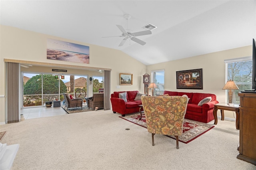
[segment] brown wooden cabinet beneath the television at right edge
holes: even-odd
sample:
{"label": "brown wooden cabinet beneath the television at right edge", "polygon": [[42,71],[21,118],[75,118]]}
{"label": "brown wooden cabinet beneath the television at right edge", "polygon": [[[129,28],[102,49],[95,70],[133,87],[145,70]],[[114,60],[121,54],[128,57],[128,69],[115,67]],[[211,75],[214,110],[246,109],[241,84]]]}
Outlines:
{"label": "brown wooden cabinet beneath the television at right edge", "polygon": [[240,97],[240,139],[238,159],[256,165],[256,93]]}

